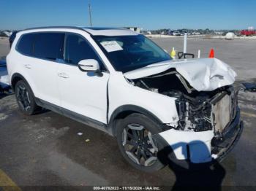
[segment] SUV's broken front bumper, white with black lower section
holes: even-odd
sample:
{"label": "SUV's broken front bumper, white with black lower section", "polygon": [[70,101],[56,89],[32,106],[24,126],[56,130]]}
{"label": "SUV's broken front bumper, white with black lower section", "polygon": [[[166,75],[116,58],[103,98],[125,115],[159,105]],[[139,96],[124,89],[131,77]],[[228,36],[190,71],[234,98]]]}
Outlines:
{"label": "SUV's broken front bumper, white with black lower section", "polygon": [[[235,119],[218,136],[214,130],[202,132],[188,130],[166,130],[154,135],[159,152],[170,148],[171,154],[168,159],[171,161],[186,160],[189,163],[221,162],[227,154],[238,143],[244,123],[240,121],[240,111],[237,111]],[[161,159],[160,159],[161,160]]]}

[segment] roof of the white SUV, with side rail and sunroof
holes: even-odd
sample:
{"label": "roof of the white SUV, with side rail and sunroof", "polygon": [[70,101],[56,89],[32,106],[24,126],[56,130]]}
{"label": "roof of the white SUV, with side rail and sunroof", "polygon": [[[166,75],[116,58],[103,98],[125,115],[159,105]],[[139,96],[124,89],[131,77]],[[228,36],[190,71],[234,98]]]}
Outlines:
{"label": "roof of the white SUV, with side rail and sunroof", "polygon": [[127,28],[111,28],[111,27],[77,27],[77,26],[47,26],[37,28],[27,28],[23,31],[39,30],[39,29],[78,29],[88,32],[93,36],[127,36],[138,35],[135,31],[131,31]]}

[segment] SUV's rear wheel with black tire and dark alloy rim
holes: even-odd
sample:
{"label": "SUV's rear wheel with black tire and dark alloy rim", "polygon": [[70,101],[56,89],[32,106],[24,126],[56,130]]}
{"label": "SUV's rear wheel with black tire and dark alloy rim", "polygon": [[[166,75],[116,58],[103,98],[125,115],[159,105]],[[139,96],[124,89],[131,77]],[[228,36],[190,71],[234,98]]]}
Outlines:
{"label": "SUV's rear wheel with black tire and dark alloy rim", "polygon": [[35,102],[34,93],[23,80],[18,81],[15,85],[15,97],[23,114],[32,115],[39,109],[39,106]]}

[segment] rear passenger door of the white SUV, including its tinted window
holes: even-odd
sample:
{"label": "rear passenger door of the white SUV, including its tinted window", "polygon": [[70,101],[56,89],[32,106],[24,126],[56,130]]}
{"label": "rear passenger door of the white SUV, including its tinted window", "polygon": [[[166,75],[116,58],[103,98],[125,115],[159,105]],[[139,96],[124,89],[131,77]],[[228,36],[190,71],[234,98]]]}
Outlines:
{"label": "rear passenger door of the white SUV, including its tinted window", "polygon": [[64,33],[42,32],[34,34],[32,54],[26,69],[37,86],[37,97],[50,104],[60,105],[57,86],[59,59],[63,58]]}

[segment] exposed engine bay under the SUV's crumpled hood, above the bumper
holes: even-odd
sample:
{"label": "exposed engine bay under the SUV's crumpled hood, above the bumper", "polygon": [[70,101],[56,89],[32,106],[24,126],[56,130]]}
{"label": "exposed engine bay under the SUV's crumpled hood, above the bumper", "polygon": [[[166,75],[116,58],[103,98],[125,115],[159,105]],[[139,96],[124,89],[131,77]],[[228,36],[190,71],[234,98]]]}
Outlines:
{"label": "exposed engine bay under the SUV's crumpled hood, above the bumper", "polygon": [[[179,120],[178,125],[173,127],[176,130],[197,132],[214,128],[215,133],[221,133],[227,124],[222,125],[222,117],[219,117],[219,113],[222,112],[223,107],[225,111],[230,107],[227,112],[228,116],[226,116],[230,121],[231,113],[233,114],[236,110],[234,103],[237,102],[237,95],[232,86],[219,87],[213,91],[197,91],[173,69],[162,74],[132,79],[131,83],[155,93],[177,98],[176,109]],[[227,95],[226,101],[218,104],[225,95]],[[228,101],[230,102],[227,103]],[[219,124],[222,125],[221,128]]]}

